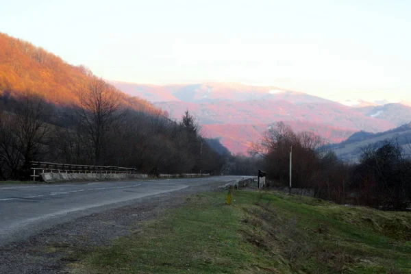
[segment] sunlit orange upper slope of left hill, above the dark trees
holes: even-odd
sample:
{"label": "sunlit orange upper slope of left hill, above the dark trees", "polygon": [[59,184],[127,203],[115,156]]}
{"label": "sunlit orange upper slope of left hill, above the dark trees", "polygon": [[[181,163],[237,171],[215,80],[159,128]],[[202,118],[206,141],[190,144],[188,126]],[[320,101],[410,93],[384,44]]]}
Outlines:
{"label": "sunlit orange upper slope of left hill, above the dark trees", "polygon": [[[78,103],[89,71],[29,42],[0,33],[0,96],[16,97],[26,90],[43,95],[49,103]],[[122,94],[123,105],[134,110],[159,112],[145,99]]]}

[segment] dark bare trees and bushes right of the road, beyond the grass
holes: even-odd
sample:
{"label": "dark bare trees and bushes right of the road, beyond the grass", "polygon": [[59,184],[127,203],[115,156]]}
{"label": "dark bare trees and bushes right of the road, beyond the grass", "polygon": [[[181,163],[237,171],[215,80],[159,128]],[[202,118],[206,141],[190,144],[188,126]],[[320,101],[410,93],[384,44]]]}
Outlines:
{"label": "dark bare trees and bushes right of the road, beyond the grass", "polygon": [[364,148],[356,164],[343,162],[324,145],[319,136],[295,133],[280,122],[253,146],[252,159],[274,184],[288,186],[292,147],[293,187],[314,188],[318,197],[337,203],[387,210],[410,207],[411,159],[395,140]]}

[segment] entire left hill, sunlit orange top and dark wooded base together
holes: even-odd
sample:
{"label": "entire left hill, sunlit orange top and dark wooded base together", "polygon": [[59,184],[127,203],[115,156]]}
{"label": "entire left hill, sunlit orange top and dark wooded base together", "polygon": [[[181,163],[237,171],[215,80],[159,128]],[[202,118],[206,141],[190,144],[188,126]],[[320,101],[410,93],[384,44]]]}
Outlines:
{"label": "entire left hill, sunlit orange top and dark wooded base together", "polygon": [[221,174],[225,158],[209,145],[219,144],[201,138],[190,115],[174,123],[88,69],[5,34],[0,60],[0,179],[33,179],[33,161]]}

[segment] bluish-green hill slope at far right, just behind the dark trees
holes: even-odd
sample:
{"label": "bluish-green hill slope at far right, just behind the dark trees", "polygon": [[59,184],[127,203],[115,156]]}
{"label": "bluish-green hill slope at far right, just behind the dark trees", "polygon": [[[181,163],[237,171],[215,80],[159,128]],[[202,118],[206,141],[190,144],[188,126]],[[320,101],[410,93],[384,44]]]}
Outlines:
{"label": "bluish-green hill slope at far right, just behind the dark trees", "polygon": [[364,131],[356,132],[347,140],[327,147],[343,160],[356,162],[364,147],[378,145],[384,140],[393,140],[403,148],[404,153],[411,153],[411,123],[377,134]]}

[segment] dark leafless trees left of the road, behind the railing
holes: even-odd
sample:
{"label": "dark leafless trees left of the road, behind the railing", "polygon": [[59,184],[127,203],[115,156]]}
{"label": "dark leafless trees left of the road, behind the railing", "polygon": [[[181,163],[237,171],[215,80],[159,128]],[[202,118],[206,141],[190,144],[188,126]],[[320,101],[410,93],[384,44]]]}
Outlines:
{"label": "dark leafless trees left of the road, behind the railing", "polygon": [[134,110],[95,75],[76,90],[77,104],[55,105],[27,91],[0,100],[0,178],[28,179],[32,161],[112,165],[140,173],[211,173],[225,158],[201,136],[188,111],[182,121]]}

